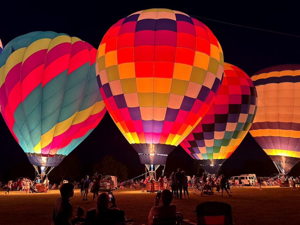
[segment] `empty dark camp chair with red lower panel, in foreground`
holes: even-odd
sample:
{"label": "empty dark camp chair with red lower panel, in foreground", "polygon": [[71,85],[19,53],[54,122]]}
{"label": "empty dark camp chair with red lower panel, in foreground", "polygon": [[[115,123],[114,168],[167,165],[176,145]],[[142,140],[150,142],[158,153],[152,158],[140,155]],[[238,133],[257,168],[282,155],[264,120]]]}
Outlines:
{"label": "empty dark camp chair with red lower panel, in foreground", "polygon": [[203,202],[196,206],[197,223],[184,221],[184,225],[232,225],[231,206],[225,202]]}

